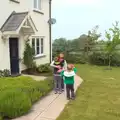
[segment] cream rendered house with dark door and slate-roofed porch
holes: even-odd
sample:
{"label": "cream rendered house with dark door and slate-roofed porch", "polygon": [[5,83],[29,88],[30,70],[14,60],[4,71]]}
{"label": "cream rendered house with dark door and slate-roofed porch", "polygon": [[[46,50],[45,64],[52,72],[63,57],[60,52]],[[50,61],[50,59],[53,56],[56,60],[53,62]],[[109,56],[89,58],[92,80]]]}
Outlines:
{"label": "cream rendered house with dark door and slate-roofed porch", "polygon": [[3,0],[0,4],[0,70],[20,74],[29,39],[37,65],[51,60],[51,0]]}

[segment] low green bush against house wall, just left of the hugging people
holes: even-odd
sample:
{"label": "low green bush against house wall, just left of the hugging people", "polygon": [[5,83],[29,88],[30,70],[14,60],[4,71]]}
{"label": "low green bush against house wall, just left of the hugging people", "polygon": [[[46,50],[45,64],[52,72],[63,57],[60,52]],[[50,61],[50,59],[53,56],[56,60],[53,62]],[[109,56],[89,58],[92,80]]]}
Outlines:
{"label": "low green bush against house wall, just left of the hugging people", "polygon": [[50,64],[48,64],[48,63],[39,65],[37,69],[38,69],[39,73],[51,72]]}

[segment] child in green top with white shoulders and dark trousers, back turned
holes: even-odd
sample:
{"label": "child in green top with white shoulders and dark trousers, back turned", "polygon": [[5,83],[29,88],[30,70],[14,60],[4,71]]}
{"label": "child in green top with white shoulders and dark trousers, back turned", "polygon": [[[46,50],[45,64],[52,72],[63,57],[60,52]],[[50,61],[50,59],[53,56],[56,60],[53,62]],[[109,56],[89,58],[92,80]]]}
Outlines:
{"label": "child in green top with white shoulders and dark trousers, back turned", "polygon": [[[72,64],[67,65],[67,70],[61,72],[61,76],[64,77],[64,83],[66,84],[67,99],[74,99],[74,76],[76,75],[76,68]],[[70,95],[71,92],[71,95]]]}

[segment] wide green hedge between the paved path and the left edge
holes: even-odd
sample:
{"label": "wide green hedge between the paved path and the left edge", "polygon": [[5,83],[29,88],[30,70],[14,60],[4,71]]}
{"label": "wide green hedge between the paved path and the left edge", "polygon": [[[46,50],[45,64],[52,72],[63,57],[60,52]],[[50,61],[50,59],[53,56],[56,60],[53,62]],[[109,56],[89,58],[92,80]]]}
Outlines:
{"label": "wide green hedge between the paved path and the left edge", "polygon": [[51,78],[44,81],[23,76],[0,78],[0,116],[12,119],[24,115],[52,88]]}

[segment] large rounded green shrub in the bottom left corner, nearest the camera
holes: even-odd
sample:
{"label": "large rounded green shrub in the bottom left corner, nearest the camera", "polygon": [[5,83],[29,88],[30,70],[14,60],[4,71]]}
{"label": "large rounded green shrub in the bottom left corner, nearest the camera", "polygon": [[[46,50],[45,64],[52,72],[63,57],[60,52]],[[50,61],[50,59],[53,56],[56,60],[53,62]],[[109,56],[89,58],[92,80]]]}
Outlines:
{"label": "large rounded green shrub in the bottom left corner, nearest the camera", "polygon": [[16,89],[4,90],[0,93],[0,113],[13,118],[28,112],[31,101],[27,95]]}

